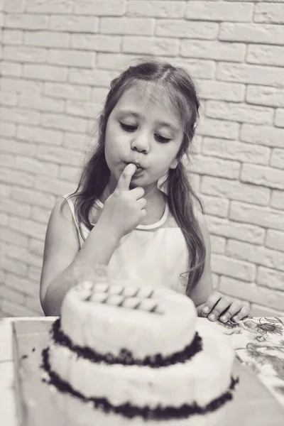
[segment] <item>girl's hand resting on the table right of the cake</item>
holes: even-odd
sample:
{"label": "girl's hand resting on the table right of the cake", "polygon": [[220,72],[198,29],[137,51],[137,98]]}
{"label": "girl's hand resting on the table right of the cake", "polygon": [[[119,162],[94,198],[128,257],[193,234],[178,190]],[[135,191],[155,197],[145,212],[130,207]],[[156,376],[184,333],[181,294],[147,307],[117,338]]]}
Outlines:
{"label": "girl's hand resting on the table right of the cake", "polygon": [[207,317],[209,321],[219,319],[221,322],[228,320],[237,322],[249,315],[249,305],[214,291],[207,302],[198,307],[198,312],[201,317]]}

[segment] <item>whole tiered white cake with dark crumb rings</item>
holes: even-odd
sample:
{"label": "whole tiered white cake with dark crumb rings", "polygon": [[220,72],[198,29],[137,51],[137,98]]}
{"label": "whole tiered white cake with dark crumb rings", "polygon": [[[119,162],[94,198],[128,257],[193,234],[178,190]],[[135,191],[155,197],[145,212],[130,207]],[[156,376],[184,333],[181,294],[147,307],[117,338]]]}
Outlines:
{"label": "whole tiered white cake with dark crumb rings", "polygon": [[107,280],[69,290],[43,350],[60,409],[82,426],[219,425],[233,362],[189,297]]}

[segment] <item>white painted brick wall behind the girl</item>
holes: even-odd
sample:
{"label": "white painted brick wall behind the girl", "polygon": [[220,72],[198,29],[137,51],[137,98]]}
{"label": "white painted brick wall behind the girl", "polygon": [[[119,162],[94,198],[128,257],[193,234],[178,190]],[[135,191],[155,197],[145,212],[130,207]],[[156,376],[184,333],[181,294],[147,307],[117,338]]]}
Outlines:
{"label": "white painted brick wall behind the girl", "polygon": [[109,82],[154,55],[197,82],[193,182],[214,288],[284,315],[283,1],[0,1],[0,316],[40,315],[45,230]]}

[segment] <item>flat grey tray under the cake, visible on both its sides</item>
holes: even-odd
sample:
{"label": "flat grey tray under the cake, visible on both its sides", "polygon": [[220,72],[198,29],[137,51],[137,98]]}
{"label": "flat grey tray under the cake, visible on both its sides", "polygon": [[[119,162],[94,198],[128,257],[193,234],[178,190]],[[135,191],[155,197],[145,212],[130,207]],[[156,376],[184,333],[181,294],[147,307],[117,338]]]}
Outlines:
{"label": "flat grey tray under the cake, visible on both its sides", "polygon": [[[71,426],[54,403],[55,393],[43,382],[41,351],[48,346],[52,322],[13,323],[13,357],[19,426]],[[284,410],[248,367],[236,359],[240,383],[224,425],[283,426]]]}

